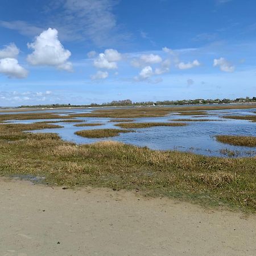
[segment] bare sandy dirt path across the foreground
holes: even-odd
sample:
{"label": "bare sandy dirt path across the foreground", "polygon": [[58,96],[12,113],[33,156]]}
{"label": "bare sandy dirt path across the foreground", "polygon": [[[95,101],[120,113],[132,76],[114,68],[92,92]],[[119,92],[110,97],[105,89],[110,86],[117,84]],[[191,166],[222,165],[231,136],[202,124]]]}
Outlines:
{"label": "bare sandy dirt path across the foreground", "polygon": [[256,255],[256,216],[0,178],[0,255]]}

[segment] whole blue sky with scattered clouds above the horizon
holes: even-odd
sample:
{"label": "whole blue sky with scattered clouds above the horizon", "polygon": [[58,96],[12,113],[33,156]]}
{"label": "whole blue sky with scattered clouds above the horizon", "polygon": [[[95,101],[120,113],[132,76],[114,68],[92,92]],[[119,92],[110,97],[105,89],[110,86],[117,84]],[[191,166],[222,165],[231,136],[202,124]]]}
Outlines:
{"label": "whole blue sky with scattered clouds above the horizon", "polygon": [[1,0],[0,106],[256,96],[255,0]]}

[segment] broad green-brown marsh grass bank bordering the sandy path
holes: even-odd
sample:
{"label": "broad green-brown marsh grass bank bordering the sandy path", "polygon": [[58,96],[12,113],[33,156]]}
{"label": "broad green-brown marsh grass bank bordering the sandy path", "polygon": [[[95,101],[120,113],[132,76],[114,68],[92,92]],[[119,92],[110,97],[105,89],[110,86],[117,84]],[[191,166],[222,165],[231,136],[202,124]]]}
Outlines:
{"label": "broad green-brown marsh grass bank bordering the sandy path", "polygon": [[255,158],[213,158],[117,142],[76,145],[23,129],[28,126],[1,125],[9,135],[0,138],[2,176],[44,176],[50,185],[137,189],[142,195],[256,210]]}

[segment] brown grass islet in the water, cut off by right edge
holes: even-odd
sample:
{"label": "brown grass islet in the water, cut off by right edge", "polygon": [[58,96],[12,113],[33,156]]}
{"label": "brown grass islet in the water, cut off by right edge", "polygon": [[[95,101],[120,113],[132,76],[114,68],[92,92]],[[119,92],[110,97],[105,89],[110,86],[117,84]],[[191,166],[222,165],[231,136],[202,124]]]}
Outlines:
{"label": "brown grass islet in the water, cut off by right edge", "polygon": [[256,147],[256,137],[253,136],[217,135],[216,139],[230,145]]}

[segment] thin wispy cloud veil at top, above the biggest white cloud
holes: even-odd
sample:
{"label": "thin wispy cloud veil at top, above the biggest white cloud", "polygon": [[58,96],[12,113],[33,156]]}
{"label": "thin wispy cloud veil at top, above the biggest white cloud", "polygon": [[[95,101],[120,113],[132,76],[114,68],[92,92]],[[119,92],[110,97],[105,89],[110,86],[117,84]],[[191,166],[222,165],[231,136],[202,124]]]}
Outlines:
{"label": "thin wispy cloud veil at top, above the biggest white cloud", "polygon": [[48,27],[55,27],[61,40],[87,40],[98,47],[109,47],[127,42],[130,38],[130,34],[122,32],[117,24],[113,14],[115,5],[115,0],[52,1],[44,8],[44,20],[40,22],[1,20],[0,26],[26,36],[35,36]]}

